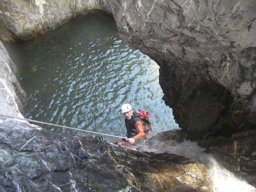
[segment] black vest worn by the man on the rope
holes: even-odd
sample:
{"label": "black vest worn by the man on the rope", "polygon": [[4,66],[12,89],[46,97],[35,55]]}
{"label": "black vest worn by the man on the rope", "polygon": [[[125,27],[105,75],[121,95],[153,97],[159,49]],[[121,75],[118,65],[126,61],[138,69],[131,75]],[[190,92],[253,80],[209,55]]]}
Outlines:
{"label": "black vest worn by the man on the rope", "polygon": [[140,119],[140,116],[141,114],[140,113],[136,113],[136,112],[133,112],[132,113],[132,118],[130,120],[128,120],[127,118],[125,118],[125,127],[126,127],[126,130],[127,130],[127,138],[132,138],[134,137],[135,135],[137,135],[139,132],[137,131],[136,127],[134,126],[134,124],[138,121],[141,122],[141,119]]}

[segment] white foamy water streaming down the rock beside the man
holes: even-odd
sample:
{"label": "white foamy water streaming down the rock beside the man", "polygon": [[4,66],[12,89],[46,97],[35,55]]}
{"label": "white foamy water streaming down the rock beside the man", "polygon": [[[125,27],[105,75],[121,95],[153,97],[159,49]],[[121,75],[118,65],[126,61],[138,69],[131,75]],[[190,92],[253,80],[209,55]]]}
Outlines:
{"label": "white foamy water streaming down the rock beside the man", "polygon": [[199,147],[196,142],[185,140],[182,143],[176,143],[172,140],[155,140],[137,150],[181,155],[206,164],[211,167],[210,176],[213,192],[256,192],[255,187],[241,178],[237,178],[232,172],[219,165],[212,155],[204,153],[204,148]]}

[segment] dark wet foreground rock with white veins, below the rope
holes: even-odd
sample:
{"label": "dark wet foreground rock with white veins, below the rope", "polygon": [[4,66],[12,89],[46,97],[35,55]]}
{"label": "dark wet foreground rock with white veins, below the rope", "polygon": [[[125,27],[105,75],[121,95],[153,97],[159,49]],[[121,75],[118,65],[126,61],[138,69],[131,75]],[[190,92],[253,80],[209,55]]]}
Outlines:
{"label": "dark wet foreground rock with white veins, below the rope", "polygon": [[25,121],[1,121],[0,155],[1,191],[212,189],[210,168],[200,162],[117,147],[98,136],[45,131]]}

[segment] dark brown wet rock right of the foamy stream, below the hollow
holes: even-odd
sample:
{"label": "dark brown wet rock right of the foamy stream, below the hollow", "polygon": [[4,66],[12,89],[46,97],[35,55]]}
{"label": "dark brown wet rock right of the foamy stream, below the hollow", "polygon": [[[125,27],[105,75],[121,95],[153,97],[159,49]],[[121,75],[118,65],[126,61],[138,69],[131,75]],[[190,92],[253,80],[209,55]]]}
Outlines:
{"label": "dark brown wet rock right of the foamy stream, below the hollow", "polygon": [[218,162],[256,186],[256,130],[235,133],[231,137],[210,137],[197,141]]}

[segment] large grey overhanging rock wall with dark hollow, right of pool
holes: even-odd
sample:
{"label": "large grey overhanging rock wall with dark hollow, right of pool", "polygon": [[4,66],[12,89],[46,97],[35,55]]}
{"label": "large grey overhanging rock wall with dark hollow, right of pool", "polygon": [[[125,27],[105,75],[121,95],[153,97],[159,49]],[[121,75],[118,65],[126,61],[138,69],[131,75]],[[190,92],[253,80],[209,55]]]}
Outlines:
{"label": "large grey overhanging rock wall with dark hollow, right of pool", "polygon": [[256,125],[254,0],[109,0],[126,42],[160,65],[163,99],[196,140]]}

